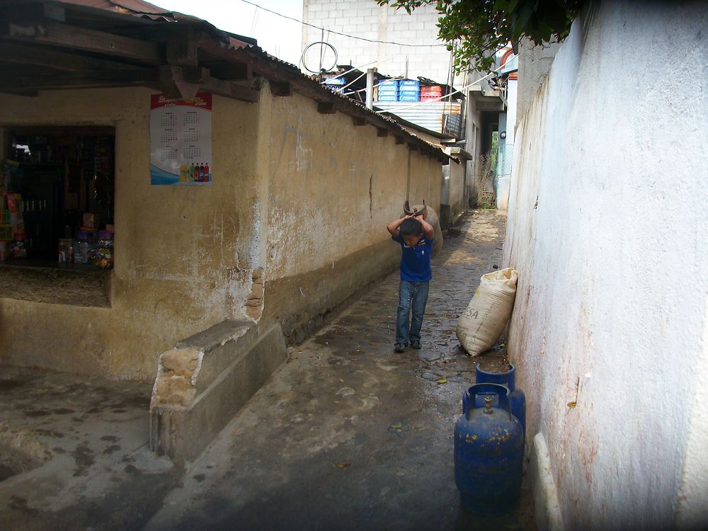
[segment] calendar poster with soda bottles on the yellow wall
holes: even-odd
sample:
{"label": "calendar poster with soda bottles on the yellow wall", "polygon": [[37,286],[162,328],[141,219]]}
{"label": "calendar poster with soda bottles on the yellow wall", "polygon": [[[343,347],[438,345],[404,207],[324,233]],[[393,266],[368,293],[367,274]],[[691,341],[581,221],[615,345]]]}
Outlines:
{"label": "calendar poster with soda bottles on the yellow wall", "polygon": [[212,183],[212,95],[150,97],[150,184]]}

